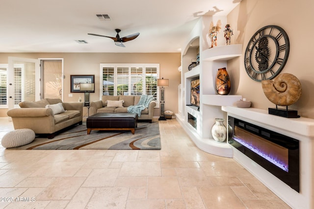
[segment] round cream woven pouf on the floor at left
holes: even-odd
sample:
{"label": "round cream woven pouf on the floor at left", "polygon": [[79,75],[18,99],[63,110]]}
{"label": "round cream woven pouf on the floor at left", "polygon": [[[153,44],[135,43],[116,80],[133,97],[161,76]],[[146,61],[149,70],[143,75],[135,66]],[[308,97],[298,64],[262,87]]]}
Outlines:
{"label": "round cream woven pouf on the floor at left", "polygon": [[1,140],[5,148],[20,147],[29,144],[35,139],[35,132],[30,129],[17,129],[6,133]]}

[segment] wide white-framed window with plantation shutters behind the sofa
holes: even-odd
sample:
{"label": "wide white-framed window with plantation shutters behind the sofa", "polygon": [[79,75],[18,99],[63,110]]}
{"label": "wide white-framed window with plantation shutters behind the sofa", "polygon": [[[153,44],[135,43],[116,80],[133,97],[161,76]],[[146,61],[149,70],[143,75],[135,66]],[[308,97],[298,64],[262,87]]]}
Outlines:
{"label": "wide white-framed window with plantation shutters behind the sofa", "polygon": [[[159,101],[159,64],[101,63],[101,95],[152,95]],[[157,107],[159,103],[157,102]]]}

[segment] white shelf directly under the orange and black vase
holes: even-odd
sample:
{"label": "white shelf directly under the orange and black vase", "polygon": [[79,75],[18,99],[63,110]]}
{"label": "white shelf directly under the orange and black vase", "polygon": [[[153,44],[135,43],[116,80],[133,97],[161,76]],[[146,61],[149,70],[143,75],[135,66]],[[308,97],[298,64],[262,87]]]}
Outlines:
{"label": "white shelf directly under the orange and black vase", "polygon": [[240,95],[201,95],[200,101],[208,105],[232,106],[241,99]]}

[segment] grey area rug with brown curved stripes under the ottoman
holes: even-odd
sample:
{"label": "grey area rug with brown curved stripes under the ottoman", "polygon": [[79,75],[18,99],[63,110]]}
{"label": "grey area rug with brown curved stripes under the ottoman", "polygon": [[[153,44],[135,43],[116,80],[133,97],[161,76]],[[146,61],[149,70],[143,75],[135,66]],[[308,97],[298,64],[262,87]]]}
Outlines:
{"label": "grey area rug with brown curved stripes under the ottoman", "polygon": [[158,122],[138,123],[131,131],[91,131],[76,125],[53,139],[36,136],[30,144],[12,149],[23,150],[160,150]]}

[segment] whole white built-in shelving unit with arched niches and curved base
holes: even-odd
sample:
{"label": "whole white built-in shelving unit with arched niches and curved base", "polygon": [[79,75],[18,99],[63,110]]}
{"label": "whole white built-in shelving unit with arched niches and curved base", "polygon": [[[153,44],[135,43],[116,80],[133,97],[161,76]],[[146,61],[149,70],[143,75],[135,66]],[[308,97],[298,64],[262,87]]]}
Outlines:
{"label": "whole white built-in shelving unit with arched niches and curved base", "polygon": [[[227,23],[227,17],[219,17]],[[183,104],[190,104],[191,80],[200,79],[200,108],[179,104],[182,108],[181,114],[176,118],[183,126],[184,130],[191,137],[193,142],[201,150],[221,157],[233,157],[233,149],[227,142],[216,142],[211,135],[211,127],[215,118],[225,118],[226,114],[221,110],[221,106],[234,105],[242,97],[239,95],[217,95],[215,90],[215,75],[219,68],[227,67],[227,61],[242,54],[242,45],[224,45],[224,41],[218,42],[218,47],[210,48],[207,42],[208,28],[204,25],[213,20],[212,16],[203,16],[199,19],[182,48],[181,79],[182,86],[179,92],[184,100]],[[215,22],[215,21],[214,21]],[[222,40],[222,39],[221,39]],[[191,45],[191,43],[193,44]],[[193,47],[197,46],[197,48]],[[204,50],[205,49],[205,50]],[[199,53],[199,65],[187,71],[191,59]],[[196,128],[188,123],[188,116],[195,117]]]}

